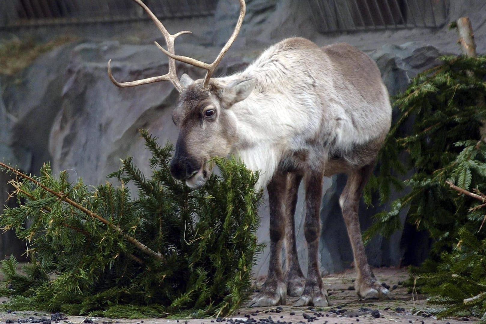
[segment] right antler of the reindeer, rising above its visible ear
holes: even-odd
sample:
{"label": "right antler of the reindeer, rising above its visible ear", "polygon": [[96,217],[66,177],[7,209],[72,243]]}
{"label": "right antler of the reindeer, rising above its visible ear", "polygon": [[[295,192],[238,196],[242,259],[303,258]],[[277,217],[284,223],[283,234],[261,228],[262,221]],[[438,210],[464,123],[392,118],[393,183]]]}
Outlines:
{"label": "right antler of the reindeer, rising above its visible ear", "polygon": [[203,88],[207,88],[208,84],[209,84],[209,79],[211,78],[214,70],[216,69],[218,64],[221,62],[221,60],[223,59],[223,56],[225,56],[226,51],[228,51],[230,46],[235,41],[236,36],[238,36],[238,34],[240,33],[245,13],[246,13],[246,3],[245,3],[244,0],[240,0],[240,17],[238,17],[238,21],[236,22],[236,26],[235,26],[235,29],[233,31],[233,34],[231,34],[231,37],[229,37],[225,46],[219,52],[218,56],[216,57],[216,59],[214,60],[213,63],[209,64],[209,63],[205,63],[205,62],[202,62],[202,61],[198,61],[198,60],[196,60],[192,57],[183,56],[183,55],[176,55],[175,53],[170,52],[169,47],[167,47],[169,49],[169,51],[166,51],[160,45],[158,45],[158,44],[156,44],[156,45],[159,47],[160,51],[163,51],[167,56],[172,57],[174,60],[184,62],[184,63],[187,63],[187,64],[191,64],[192,66],[195,66],[195,67],[198,67],[198,68],[204,68],[204,69],[208,70],[208,72],[206,73],[206,77],[204,78],[204,83],[203,83]]}

